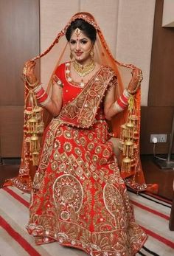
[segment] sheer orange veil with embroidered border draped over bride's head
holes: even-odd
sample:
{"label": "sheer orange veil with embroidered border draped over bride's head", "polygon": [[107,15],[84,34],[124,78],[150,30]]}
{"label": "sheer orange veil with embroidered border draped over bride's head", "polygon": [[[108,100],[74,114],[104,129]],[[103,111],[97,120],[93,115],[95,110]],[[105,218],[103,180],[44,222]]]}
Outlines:
{"label": "sheer orange veil with embroidered border draped over bride's head", "polygon": [[[127,65],[116,61],[111,54],[104,36],[94,17],[90,13],[77,13],[72,16],[66,27],[61,30],[55,41],[43,52],[32,60],[36,63],[36,72],[41,77],[41,83],[46,91],[52,93],[52,74],[61,64],[69,61],[70,49],[66,40],[66,30],[72,21],[82,18],[97,30],[97,40],[94,44],[94,60],[100,65],[108,65],[114,69],[118,85],[116,86],[116,99],[122,91],[128,87],[129,83],[141,83],[141,70],[133,65]],[[134,73],[133,73],[134,72]],[[134,74],[134,75],[133,75]],[[24,73],[25,76],[25,73]],[[25,109],[24,109],[24,140],[21,153],[21,167],[18,178],[13,179],[13,184],[21,190],[29,192],[31,190],[32,178],[37,166],[41,135],[43,129],[51,120],[49,114],[37,105],[35,95],[25,80]],[[119,144],[122,153],[122,165],[120,166],[122,178],[126,184],[135,190],[145,190],[144,175],[139,159],[139,131],[140,131],[140,87],[136,94],[131,97],[129,108],[111,120],[111,128],[114,137],[121,137]],[[116,140],[115,140],[116,141]],[[128,142],[132,143],[128,143]],[[116,141],[117,142],[117,141]],[[129,145],[130,144],[130,145]],[[31,148],[35,152],[30,152]]]}

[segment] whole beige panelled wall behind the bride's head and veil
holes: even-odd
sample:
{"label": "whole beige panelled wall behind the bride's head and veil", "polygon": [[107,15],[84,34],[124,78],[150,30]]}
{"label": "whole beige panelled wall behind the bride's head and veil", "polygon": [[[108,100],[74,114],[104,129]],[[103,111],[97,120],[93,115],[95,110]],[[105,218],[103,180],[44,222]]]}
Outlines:
{"label": "whole beige panelled wall behind the bride's head and veil", "polygon": [[155,0],[40,0],[41,52],[78,11],[94,15],[117,60],[142,69],[142,105],[147,105]]}

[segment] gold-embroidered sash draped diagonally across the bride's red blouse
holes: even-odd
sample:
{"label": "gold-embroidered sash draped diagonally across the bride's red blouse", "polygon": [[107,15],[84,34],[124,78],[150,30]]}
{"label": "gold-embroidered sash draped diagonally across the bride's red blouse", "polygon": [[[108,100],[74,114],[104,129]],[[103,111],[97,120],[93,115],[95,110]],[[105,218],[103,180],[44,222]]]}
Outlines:
{"label": "gold-embroidered sash draped diagonally across the bride's red blouse", "polygon": [[60,120],[67,120],[69,124],[88,128],[95,120],[97,109],[105,94],[114,71],[109,66],[102,66],[100,71],[90,80],[78,96],[66,105],[60,112]]}

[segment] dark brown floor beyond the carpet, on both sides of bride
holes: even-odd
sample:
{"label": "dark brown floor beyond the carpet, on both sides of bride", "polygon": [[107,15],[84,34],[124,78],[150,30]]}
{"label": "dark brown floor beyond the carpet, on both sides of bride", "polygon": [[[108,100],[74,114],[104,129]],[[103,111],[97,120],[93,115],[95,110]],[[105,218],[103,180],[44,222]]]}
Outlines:
{"label": "dark brown floor beyond the carpet, on both sides of bride", "polygon": [[[142,168],[145,173],[145,179],[148,183],[159,184],[159,196],[173,200],[173,179],[174,170],[172,168],[164,170],[153,162],[153,156],[141,156]],[[8,164],[7,164],[8,163]],[[18,176],[18,161],[4,161],[0,165],[0,187],[7,179]]]}

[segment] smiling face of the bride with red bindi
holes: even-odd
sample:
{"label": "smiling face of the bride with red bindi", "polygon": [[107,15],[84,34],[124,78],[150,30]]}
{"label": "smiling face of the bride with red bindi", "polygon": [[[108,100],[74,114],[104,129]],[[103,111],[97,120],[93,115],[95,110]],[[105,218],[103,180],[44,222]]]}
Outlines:
{"label": "smiling face of the bride with red bindi", "polygon": [[93,43],[81,30],[74,30],[69,41],[69,46],[75,60],[83,64],[91,61],[90,52]]}

